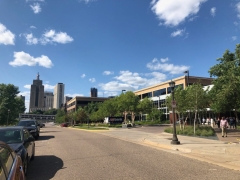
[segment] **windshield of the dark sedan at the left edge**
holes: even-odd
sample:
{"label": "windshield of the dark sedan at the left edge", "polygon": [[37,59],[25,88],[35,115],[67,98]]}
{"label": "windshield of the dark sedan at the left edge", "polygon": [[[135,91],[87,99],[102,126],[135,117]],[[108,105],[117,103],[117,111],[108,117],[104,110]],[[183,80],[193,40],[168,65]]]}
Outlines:
{"label": "windshield of the dark sedan at the left edge", "polygon": [[22,133],[19,129],[0,130],[0,141],[7,144],[21,143],[22,139]]}

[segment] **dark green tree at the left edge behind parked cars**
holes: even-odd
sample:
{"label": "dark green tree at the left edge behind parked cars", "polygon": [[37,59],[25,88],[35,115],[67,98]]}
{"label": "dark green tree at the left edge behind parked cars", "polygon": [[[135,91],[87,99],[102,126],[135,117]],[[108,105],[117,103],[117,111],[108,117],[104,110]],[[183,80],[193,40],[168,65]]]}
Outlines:
{"label": "dark green tree at the left edge behind parked cars", "polygon": [[0,84],[0,124],[11,124],[25,111],[24,102],[17,97],[19,92],[13,84]]}

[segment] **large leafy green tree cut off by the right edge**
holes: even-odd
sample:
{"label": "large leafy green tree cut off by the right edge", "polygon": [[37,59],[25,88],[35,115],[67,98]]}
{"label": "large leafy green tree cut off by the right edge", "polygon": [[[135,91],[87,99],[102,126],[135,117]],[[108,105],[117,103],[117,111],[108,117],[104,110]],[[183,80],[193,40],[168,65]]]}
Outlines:
{"label": "large leafy green tree cut off by the right edge", "polygon": [[238,120],[240,112],[240,44],[236,45],[234,53],[226,50],[218,64],[209,70],[214,87],[211,90],[210,107],[215,112],[234,110]]}

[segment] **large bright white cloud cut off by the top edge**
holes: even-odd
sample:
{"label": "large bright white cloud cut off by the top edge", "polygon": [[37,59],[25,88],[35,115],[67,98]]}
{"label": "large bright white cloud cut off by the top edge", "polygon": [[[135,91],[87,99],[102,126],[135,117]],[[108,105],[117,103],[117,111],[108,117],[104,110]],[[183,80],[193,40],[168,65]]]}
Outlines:
{"label": "large bright white cloud cut off by the top edge", "polygon": [[152,11],[166,26],[177,26],[195,15],[207,0],[152,0]]}

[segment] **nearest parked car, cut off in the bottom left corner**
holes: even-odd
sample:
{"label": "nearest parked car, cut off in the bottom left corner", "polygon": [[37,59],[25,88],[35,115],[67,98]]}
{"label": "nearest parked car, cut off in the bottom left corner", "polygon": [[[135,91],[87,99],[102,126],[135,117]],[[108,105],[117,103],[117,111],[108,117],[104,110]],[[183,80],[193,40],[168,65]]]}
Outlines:
{"label": "nearest parked car, cut off in the bottom left corner", "polygon": [[21,157],[2,141],[0,141],[0,179],[25,180]]}

